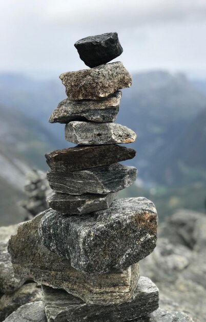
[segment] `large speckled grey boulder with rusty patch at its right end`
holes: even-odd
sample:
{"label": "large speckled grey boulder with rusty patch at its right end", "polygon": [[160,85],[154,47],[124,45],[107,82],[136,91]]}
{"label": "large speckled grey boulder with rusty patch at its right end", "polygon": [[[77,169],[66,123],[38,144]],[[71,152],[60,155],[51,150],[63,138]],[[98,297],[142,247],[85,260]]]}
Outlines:
{"label": "large speckled grey boulder with rusty patch at its right end", "polygon": [[145,258],[156,246],[157,212],[146,198],[119,199],[109,209],[81,216],[47,210],[39,238],[80,272],[103,274]]}

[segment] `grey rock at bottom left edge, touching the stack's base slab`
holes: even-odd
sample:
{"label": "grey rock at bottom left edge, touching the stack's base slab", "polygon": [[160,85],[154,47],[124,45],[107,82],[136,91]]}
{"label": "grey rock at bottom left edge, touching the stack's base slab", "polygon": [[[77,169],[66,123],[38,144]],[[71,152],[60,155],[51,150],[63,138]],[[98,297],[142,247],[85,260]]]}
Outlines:
{"label": "grey rock at bottom left edge, touching the stack's base slab", "polygon": [[31,302],[21,306],[5,322],[47,322],[43,302]]}

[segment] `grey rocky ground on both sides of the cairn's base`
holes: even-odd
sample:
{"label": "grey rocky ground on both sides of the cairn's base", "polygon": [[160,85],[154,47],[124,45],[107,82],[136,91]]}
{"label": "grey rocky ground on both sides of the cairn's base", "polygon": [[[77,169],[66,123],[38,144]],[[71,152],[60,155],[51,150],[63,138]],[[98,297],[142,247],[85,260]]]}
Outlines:
{"label": "grey rocky ground on both sides of the cairn's base", "polygon": [[[205,214],[186,209],[177,211],[159,226],[157,246],[151,255],[140,261],[140,272],[158,286],[160,309],[142,322],[204,320],[205,227]],[[0,228],[0,321],[5,318],[6,321],[20,321],[19,316],[24,316],[22,321],[27,321],[27,316],[32,321],[44,321],[39,285],[17,280],[13,275],[7,245],[16,229],[17,225]]]}

